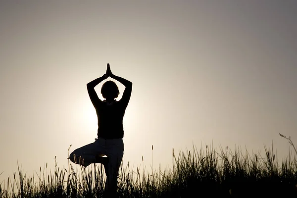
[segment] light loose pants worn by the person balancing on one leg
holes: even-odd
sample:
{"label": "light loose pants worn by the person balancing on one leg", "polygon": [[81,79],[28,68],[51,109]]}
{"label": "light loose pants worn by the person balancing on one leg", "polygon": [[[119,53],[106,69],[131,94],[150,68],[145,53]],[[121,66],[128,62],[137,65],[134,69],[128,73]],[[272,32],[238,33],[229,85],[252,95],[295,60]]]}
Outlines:
{"label": "light loose pants worn by the person balancing on one leg", "polygon": [[[74,160],[74,154],[76,160]],[[107,165],[104,164],[106,182],[105,190],[116,189],[117,177],[124,154],[124,143],[123,139],[95,139],[94,143],[85,145],[81,148],[75,149],[69,156],[70,160],[74,163],[79,164],[79,157],[84,160],[84,166],[88,166],[96,161],[96,155],[104,156],[109,158]]]}

